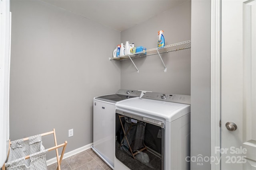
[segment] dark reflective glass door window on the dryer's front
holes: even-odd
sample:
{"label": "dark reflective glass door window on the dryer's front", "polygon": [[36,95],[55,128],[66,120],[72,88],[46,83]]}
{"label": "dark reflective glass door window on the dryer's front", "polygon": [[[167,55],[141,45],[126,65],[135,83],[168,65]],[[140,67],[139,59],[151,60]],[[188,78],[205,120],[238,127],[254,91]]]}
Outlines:
{"label": "dark reflective glass door window on the dryer's front", "polygon": [[116,113],[115,155],[132,170],[164,169],[164,128]]}

